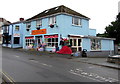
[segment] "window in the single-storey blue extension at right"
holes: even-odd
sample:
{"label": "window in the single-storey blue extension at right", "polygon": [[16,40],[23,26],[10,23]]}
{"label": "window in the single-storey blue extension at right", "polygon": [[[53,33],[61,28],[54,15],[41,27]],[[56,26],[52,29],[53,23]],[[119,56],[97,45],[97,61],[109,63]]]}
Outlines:
{"label": "window in the single-storey blue extension at right", "polygon": [[101,49],[101,40],[91,39],[91,50],[100,50]]}

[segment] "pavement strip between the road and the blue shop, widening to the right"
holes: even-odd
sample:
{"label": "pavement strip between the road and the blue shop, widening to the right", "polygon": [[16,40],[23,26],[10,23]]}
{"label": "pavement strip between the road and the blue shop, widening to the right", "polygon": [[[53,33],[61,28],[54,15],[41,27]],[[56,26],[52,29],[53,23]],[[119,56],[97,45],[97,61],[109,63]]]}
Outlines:
{"label": "pavement strip between the road and the blue shop, widening to the right", "polygon": [[57,54],[57,53],[51,53],[51,52],[40,52],[36,50],[25,50],[25,49],[18,49],[20,51],[24,51],[26,53],[31,53],[35,55],[47,55],[50,57],[59,57],[59,58],[67,58],[70,59],[71,61],[75,62],[82,62],[82,63],[88,63],[88,64],[93,64],[93,65],[98,65],[98,66],[103,66],[103,67],[109,67],[109,68],[114,68],[120,70],[120,65],[116,63],[110,63],[107,62],[107,57],[71,57],[71,55],[64,55],[64,54]]}

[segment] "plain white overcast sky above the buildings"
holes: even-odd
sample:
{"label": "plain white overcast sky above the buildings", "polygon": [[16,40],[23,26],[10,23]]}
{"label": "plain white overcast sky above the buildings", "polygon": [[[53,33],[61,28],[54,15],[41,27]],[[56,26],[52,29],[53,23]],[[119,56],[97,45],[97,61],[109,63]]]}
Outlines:
{"label": "plain white overcast sky above the buildings", "polygon": [[46,9],[65,5],[90,18],[89,28],[104,33],[115,21],[120,0],[0,0],[0,17],[10,22],[28,19]]}

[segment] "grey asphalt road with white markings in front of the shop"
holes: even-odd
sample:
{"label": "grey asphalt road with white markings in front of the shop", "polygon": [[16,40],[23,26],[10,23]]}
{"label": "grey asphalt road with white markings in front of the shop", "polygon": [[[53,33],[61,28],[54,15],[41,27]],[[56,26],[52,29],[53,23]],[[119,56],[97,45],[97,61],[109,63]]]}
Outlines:
{"label": "grey asphalt road with white markings in front of the shop", "polygon": [[[1,48],[1,47],[0,47]],[[117,82],[118,70],[2,48],[2,71],[14,82]]]}

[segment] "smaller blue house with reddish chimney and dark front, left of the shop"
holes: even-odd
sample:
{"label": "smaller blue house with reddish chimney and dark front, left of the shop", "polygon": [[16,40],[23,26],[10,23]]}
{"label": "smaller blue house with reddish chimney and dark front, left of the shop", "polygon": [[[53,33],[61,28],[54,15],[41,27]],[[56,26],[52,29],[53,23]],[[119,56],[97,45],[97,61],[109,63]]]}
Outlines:
{"label": "smaller blue house with reddish chimney and dark front, left of the shop", "polygon": [[25,28],[23,21],[24,18],[20,18],[20,21],[3,26],[3,46],[11,48],[23,47],[23,28]]}

